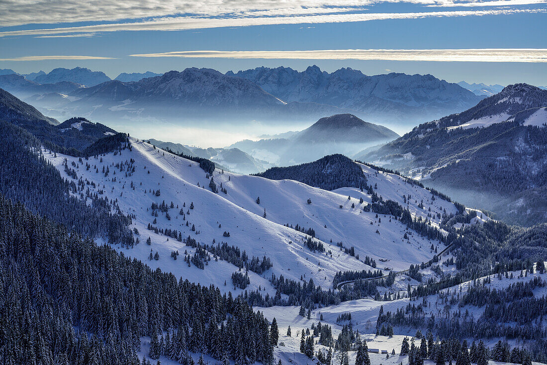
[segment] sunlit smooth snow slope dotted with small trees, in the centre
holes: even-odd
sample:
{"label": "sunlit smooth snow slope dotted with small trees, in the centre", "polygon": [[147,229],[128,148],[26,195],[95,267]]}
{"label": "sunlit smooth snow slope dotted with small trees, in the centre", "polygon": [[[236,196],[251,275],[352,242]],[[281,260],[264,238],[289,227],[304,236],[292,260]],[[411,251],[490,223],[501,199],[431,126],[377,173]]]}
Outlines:
{"label": "sunlit smooth snow slope dotted with small trees, in the centre", "polygon": [[[71,179],[64,171],[63,161],[66,159],[68,166],[77,171],[78,179],[95,183],[96,187],[86,185],[92,194],[102,190],[103,194],[99,196],[117,200],[124,214],[133,215],[132,228],[139,231],[141,243],[131,250],[115,246],[117,250],[124,251],[126,256],[147,262],[152,268],[171,271],[176,276],[200,282],[202,285],[213,284],[236,295],[242,291],[231,285],[231,274],[237,268],[228,262],[216,262],[212,259],[205,266],[205,270],[194,265],[188,267],[183,260],[184,252],[193,255],[194,248],[147,230],[148,224],[153,224],[154,218],[157,221],[153,224],[155,227],[176,229],[181,231],[182,237],[190,235],[197,241],[210,245],[213,240],[217,243],[225,241],[230,246],[238,246],[241,252],[245,250],[249,259],[252,256],[269,257],[273,267],[261,275],[249,271],[251,285],[247,289],[260,287],[271,295],[275,294],[275,290],[267,279],[272,273],[297,281],[301,276],[306,280],[312,278],[316,285],[327,289],[332,287],[337,271],[373,270],[362,262],[365,256],[375,259],[380,269],[404,270],[410,264],[429,260],[433,256],[430,252],[432,243],[435,246],[440,245],[439,242],[430,242],[412,234],[412,231],[406,231],[406,227],[395,219],[390,222],[389,216],[381,215],[380,222],[376,213],[364,212],[363,205],[371,202],[371,196],[359,189],[343,188],[328,192],[296,181],[272,181],[217,169],[213,173],[214,182],[219,189],[222,183],[227,194],[216,194],[208,187],[210,179],[206,177],[206,172],[194,161],[155,149],[151,144],[136,138],[131,138],[131,144],[132,150],[124,149],[119,154],[91,157],[84,159],[83,164],[79,163],[78,158],[67,155],[57,154],[55,157],[45,150],[44,155],[61,171],[62,176]],[[116,164],[130,164],[131,161],[135,171],[130,176],[126,176],[125,170],[120,171],[115,167]],[[85,168],[86,163],[91,165],[89,170]],[[102,173],[103,166],[110,170],[108,176]],[[432,201],[432,194],[426,189],[411,186],[397,175],[376,174],[375,170],[366,166],[363,169],[369,176],[369,184],[376,184],[375,191],[384,199],[399,201],[402,205],[403,194],[411,194],[412,199],[408,206],[415,215],[426,217],[429,207],[431,213],[456,211],[453,204],[441,199]],[[160,196],[152,192],[158,189],[161,191]],[[348,195],[351,196],[350,199]],[[258,196],[260,204],[255,202]],[[359,203],[361,197],[363,204]],[[307,204],[307,199],[311,199],[311,204]],[[417,207],[422,200],[424,210]],[[170,220],[165,213],[159,211],[158,217],[152,216],[152,203],[161,204],[162,201],[167,205],[171,201],[174,204],[174,208],[168,210]],[[192,202],[195,208],[190,210]],[[179,215],[183,204],[186,221]],[[354,208],[351,208],[352,204]],[[263,217],[264,210],[266,217]],[[310,251],[304,246],[307,236],[284,227],[287,223],[313,228],[316,240],[323,242],[326,252]],[[191,230],[193,225],[195,231]],[[219,228],[219,225],[222,227]],[[230,236],[224,237],[224,231],[228,231]],[[408,240],[403,239],[405,232],[409,233]],[[145,243],[148,237],[152,241],[150,246]],[[360,260],[345,254],[336,246],[336,242],[343,242],[348,248],[354,246]],[[444,247],[440,246],[439,249]],[[180,256],[173,260],[170,254],[176,250]],[[150,252],[158,252],[160,259],[148,260]]]}

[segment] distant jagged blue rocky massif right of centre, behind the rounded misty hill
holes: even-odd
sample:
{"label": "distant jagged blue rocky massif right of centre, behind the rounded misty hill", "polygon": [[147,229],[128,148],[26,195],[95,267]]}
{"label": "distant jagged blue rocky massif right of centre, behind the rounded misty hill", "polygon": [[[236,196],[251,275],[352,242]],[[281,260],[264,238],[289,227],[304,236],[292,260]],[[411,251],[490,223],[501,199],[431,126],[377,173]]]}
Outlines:
{"label": "distant jagged blue rocky massif right of centre, behind the rounded misty hill", "polygon": [[404,123],[465,110],[480,96],[457,84],[431,75],[389,73],[366,76],[358,70],[341,68],[333,73],[310,66],[298,72],[288,67],[259,67],[228,72],[251,80],[284,101],[315,102],[364,113],[375,123]]}

